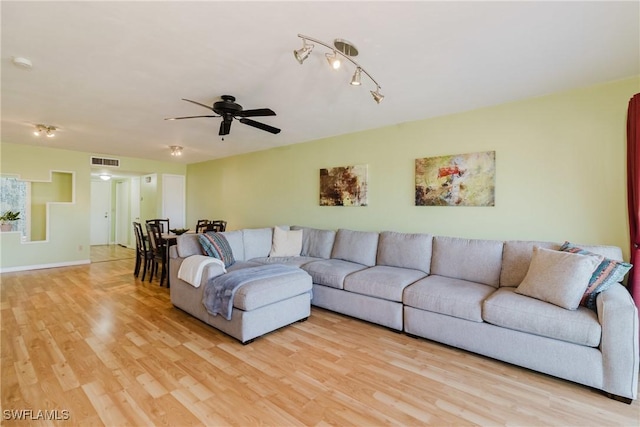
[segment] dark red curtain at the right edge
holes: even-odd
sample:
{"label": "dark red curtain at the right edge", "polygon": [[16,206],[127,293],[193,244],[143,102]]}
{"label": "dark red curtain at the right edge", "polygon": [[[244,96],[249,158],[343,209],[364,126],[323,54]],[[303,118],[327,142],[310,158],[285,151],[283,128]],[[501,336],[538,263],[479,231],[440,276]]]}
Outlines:
{"label": "dark red curtain at the right edge", "polygon": [[627,201],[629,205],[629,237],[631,264],[628,287],[640,308],[640,93],[629,101],[627,113]]}

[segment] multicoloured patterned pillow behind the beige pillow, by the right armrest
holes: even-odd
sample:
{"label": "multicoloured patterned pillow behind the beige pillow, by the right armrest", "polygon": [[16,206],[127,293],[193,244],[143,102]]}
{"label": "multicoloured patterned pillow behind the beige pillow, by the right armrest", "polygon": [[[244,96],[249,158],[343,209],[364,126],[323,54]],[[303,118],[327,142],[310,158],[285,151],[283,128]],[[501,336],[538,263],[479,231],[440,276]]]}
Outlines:
{"label": "multicoloured patterned pillow behind the beige pillow, by the right armrest", "polygon": [[[572,254],[599,256],[593,252],[589,252],[585,249],[572,245],[569,242],[564,242],[560,247],[561,251],[570,252]],[[589,280],[589,286],[582,296],[580,305],[585,307],[596,309],[596,296],[600,292],[604,292],[611,285],[616,282],[621,282],[624,279],[624,275],[633,267],[628,262],[615,261],[609,258],[604,258],[600,265],[596,268]]]}

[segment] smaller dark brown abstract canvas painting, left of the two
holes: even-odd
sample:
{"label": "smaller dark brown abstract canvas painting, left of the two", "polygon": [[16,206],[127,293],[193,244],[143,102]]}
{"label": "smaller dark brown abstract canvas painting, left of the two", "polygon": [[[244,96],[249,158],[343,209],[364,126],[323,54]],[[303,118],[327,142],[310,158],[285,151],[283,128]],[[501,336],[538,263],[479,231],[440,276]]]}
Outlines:
{"label": "smaller dark brown abstract canvas painting, left of the two", "polygon": [[367,206],[367,165],[320,169],[320,206]]}

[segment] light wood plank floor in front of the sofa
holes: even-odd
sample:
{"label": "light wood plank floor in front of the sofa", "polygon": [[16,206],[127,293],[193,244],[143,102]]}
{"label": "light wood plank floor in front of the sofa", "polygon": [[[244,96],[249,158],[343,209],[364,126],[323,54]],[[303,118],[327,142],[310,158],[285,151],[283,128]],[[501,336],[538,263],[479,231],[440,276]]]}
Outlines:
{"label": "light wood plank floor in front of the sofa", "polygon": [[0,276],[2,425],[640,424],[637,400],[320,309],[243,346],[132,270]]}

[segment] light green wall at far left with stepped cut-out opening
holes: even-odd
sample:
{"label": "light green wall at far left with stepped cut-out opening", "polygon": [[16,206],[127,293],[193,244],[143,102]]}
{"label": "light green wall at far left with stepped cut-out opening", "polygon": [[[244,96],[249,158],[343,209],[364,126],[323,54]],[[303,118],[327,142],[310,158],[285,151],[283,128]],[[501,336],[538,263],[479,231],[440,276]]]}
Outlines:
{"label": "light green wall at far left with stepped cut-out opening", "polygon": [[[119,170],[136,173],[185,175],[183,164],[135,159],[99,153],[60,150],[43,146],[1,143],[0,173],[17,175],[31,181],[51,181],[52,171],[73,173],[72,203],[54,203],[49,211],[49,239],[20,242],[19,233],[0,233],[0,269],[3,271],[28,266],[56,266],[89,261],[90,233],[90,157],[120,159]],[[159,189],[161,191],[161,189]],[[153,201],[161,212],[161,204]]]}

